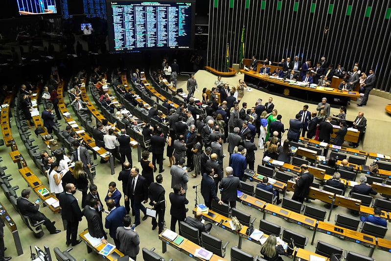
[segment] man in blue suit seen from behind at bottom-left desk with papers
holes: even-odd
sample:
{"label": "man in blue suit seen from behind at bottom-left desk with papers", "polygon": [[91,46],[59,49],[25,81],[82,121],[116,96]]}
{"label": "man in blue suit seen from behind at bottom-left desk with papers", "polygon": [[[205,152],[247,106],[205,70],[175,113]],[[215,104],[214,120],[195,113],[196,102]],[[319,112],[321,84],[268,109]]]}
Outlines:
{"label": "man in blue suit seen from behind at bottom-left desk with papers", "polygon": [[107,209],[110,211],[106,216],[105,228],[109,230],[109,235],[114,239],[115,247],[119,249],[120,242],[116,238],[117,228],[123,227],[123,218],[126,215],[126,210],[123,206],[115,207],[113,199],[106,201]]}

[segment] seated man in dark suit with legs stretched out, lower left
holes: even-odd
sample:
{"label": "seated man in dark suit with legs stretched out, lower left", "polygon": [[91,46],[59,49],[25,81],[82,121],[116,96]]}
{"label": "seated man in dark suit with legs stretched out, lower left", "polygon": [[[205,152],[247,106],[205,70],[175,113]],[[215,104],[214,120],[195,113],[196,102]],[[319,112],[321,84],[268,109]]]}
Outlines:
{"label": "seated man in dark suit with legs stretched out, lower left", "polygon": [[46,215],[42,214],[39,211],[39,202],[38,203],[31,203],[28,198],[30,197],[31,190],[24,189],[22,190],[22,197],[19,197],[16,200],[16,204],[18,206],[19,211],[28,217],[30,217],[31,221],[39,222],[41,220],[45,220],[44,225],[46,226],[47,230],[50,232],[50,234],[57,234],[60,233],[61,230],[57,230],[54,226],[55,222],[51,222]]}

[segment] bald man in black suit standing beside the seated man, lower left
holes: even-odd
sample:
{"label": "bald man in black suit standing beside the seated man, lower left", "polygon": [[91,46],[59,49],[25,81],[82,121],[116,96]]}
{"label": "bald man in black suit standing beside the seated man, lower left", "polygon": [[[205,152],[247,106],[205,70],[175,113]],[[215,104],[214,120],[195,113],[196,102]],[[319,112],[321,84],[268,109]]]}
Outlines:
{"label": "bald man in black suit standing beside the seated man, lower left", "polygon": [[73,196],[75,192],[75,185],[68,183],[65,185],[65,192],[60,193],[58,196],[62,219],[67,222],[66,244],[72,244],[72,246],[81,243],[81,240],[77,239],[77,229],[79,227],[79,222],[81,221],[82,213],[79,204],[77,203],[77,199]]}

